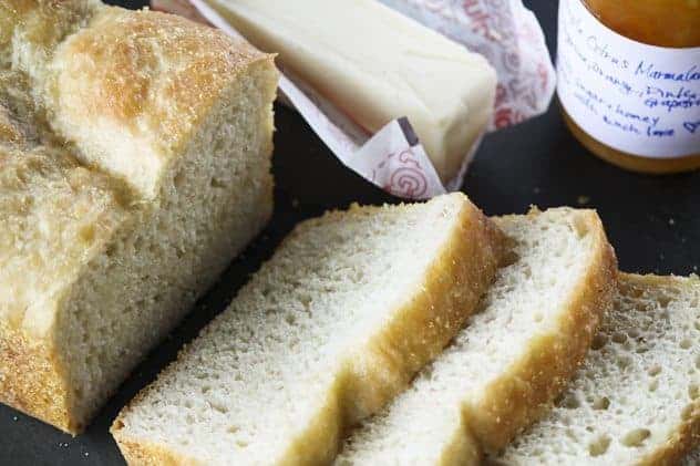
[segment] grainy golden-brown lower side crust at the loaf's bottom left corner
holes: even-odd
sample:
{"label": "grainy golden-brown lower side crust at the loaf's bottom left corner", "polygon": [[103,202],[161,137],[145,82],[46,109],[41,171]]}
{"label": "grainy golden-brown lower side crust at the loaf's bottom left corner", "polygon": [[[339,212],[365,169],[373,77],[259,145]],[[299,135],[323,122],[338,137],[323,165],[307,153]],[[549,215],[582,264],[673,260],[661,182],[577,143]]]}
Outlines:
{"label": "grainy golden-brown lower side crust at the loaf's bottom left corner", "polygon": [[0,402],[76,434],[82,426],[71,420],[66,400],[53,350],[0,322]]}

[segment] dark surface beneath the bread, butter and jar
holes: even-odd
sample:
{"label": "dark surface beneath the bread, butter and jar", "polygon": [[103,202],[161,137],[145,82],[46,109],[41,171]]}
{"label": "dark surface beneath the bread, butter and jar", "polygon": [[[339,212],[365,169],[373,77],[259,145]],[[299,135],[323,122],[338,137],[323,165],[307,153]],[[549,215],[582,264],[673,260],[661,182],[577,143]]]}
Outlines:
{"label": "dark surface beneath the bread, butter and jar", "polygon": [[[554,51],[556,2],[525,3],[542,21]],[[140,1],[122,4],[142,6]],[[107,433],[119,410],[225,309],[295,222],[356,200],[395,201],[343,168],[294,112],[277,107],[277,127],[276,211],[265,234],[231,265],[172,338],[136,369],[83,435],[72,438],[0,405],[0,463],[122,465]],[[700,265],[700,173],[652,177],[607,165],[572,137],[556,103],[539,118],[486,137],[463,190],[490,215],[524,213],[532,204],[577,206],[585,196],[603,217],[624,270],[688,275]]]}

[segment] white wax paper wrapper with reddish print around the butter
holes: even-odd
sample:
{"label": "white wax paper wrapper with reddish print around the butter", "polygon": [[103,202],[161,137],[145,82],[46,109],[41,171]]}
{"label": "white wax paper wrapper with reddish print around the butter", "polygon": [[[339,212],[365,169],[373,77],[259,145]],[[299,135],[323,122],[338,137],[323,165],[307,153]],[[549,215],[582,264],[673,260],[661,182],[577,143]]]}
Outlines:
{"label": "white wax paper wrapper with reddish print around the butter", "polygon": [[[549,106],[556,85],[554,66],[542,28],[522,0],[378,1],[488,60],[498,75],[488,132],[539,115]],[[152,0],[152,7],[239,35],[203,0]],[[426,199],[461,187],[481,139],[465,147],[460,174],[442,183],[408,118],[369,134],[305,82],[281,72],[282,102],[301,114],[347,167],[370,183],[406,199]]]}

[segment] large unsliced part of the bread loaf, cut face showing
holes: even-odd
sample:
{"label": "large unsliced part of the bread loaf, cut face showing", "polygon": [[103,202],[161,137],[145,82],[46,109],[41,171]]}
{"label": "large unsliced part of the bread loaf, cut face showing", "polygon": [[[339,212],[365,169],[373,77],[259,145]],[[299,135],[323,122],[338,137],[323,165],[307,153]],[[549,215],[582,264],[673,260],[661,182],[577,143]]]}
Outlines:
{"label": "large unsliced part of the bread loaf, cut face showing", "polygon": [[277,71],[90,0],[0,31],[0,401],[78,433],[269,218]]}

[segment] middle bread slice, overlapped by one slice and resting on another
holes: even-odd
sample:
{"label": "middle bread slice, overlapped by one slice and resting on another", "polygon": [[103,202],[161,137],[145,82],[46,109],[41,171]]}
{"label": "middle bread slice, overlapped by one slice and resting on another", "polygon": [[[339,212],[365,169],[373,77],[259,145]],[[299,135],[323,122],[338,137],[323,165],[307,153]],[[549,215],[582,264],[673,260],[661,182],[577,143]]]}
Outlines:
{"label": "middle bread slice, overlapped by one slice and resting on another", "polygon": [[452,344],[346,441],[336,465],[476,465],[564,389],[615,288],[598,216],[568,208],[496,219],[508,265]]}

